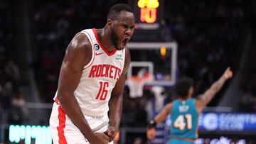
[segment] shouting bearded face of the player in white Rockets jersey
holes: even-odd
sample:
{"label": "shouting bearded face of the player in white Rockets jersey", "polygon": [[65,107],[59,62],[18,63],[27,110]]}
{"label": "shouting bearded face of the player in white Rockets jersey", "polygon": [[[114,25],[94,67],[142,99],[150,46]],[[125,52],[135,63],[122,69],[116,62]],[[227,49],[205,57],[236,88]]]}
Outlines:
{"label": "shouting bearded face of the player in white Rockets jersey", "polygon": [[135,18],[133,13],[121,11],[117,20],[113,21],[111,40],[114,48],[122,50],[132,38],[134,33]]}

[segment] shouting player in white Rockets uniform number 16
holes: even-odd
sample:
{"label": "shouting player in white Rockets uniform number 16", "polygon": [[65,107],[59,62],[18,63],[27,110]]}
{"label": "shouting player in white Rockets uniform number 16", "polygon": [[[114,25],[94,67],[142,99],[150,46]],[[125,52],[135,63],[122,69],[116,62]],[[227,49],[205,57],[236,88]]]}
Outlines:
{"label": "shouting player in white Rockets uniform number 16", "polygon": [[116,4],[104,28],[86,29],[71,40],[50,116],[53,143],[112,143],[122,114],[130,63],[126,45],[134,23],[130,6]]}

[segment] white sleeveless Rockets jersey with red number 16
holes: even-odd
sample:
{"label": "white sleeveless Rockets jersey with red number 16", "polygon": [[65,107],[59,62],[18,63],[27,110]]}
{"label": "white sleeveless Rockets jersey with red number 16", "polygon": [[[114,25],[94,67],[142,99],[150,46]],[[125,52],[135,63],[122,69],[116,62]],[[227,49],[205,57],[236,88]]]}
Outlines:
{"label": "white sleeveless Rockets jersey with red number 16", "polygon": [[84,114],[104,116],[109,111],[112,89],[124,68],[125,50],[108,52],[100,43],[95,28],[80,33],[90,40],[92,59],[85,65],[74,95]]}

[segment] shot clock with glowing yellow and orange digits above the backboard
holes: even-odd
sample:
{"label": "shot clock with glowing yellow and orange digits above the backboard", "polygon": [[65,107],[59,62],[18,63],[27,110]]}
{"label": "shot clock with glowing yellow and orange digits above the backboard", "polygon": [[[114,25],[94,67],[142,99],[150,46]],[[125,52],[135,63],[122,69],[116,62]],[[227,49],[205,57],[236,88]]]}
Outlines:
{"label": "shot clock with glowing yellow and orange digits above the backboard", "polygon": [[129,0],[135,15],[134,41],[160,41],[164,0]]}

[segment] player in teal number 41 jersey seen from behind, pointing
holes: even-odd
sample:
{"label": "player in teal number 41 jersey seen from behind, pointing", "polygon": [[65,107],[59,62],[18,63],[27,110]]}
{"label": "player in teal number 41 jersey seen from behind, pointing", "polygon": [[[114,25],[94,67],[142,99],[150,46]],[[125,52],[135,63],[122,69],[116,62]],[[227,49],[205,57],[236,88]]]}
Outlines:
{"label": "player in teal number 41 jersey seen from behind, pointing", "polygon": [[171,135],[169,144],[193,144],[198,137],[198,117],[213,96],[223,87],[227,79],[233,76],[230,67],[223,75],[211,85],[210,89],[199,95],[196,99],[193,94],[193,80],[190,78],[179,79],[175,84],[178,99],[167,104],[161,112],[149,122],[146,131],[147,138],[151,140],[156,135],[154,126],[166,119],[171,114]]}

